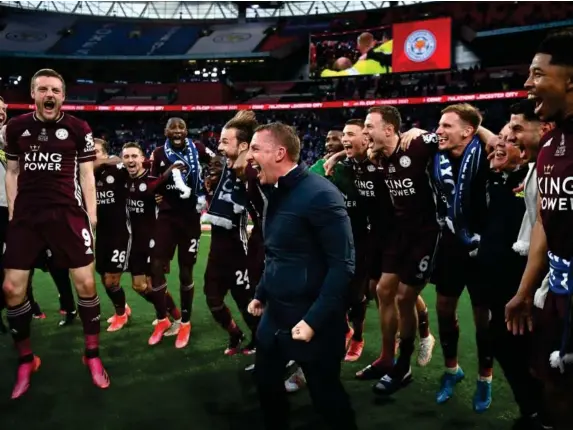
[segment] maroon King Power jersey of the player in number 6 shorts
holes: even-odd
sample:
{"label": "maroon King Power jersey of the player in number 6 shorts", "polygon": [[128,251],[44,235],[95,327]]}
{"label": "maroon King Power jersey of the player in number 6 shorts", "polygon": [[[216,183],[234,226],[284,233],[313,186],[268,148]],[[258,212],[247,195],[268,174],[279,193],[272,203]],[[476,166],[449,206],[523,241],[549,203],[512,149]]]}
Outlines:
{"label": "maroon King Power jersey of the player in number 6 shorts", "polygon": [[438,136],[425,134],[414,139],[408,149],[402,150],[398,143],[389,157],[380,157],[384,182],[400,224],[438,228],[437,196],[431,176],[437,148]]}

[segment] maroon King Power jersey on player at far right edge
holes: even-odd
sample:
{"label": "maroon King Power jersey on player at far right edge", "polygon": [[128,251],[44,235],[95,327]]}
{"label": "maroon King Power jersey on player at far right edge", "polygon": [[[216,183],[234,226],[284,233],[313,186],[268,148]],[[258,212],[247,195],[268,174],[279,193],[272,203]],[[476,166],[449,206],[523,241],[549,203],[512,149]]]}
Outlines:
{"label": "maroon King Power jersey on player at far right edge", "polygon": [[573,258],[573,133],[571,126],[556,128],[541,139],[537,158],[537,185],[541,219],[549,251]]}

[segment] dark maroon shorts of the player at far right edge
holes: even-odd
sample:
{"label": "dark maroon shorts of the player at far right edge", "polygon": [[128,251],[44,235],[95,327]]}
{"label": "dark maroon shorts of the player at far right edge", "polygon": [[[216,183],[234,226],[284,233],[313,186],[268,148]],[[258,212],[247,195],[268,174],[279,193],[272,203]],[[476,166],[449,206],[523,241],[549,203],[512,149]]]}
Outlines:
{"label": "dark maroon shorts of the player at far right edge", "polygon": [[[543,309],[533,308],[533,351],[532,367],[535,375],[545,381],[558,385],[570,385],[573,390],[573,365],[565,366],[565,374],[551,367],[549,356],[553,351],[559,351],[563,341],[563,330],[567,315],[567,306],[571,306],[571,298],[567,295],[547,293]],[[569,350],[573,352],[573,331],[569,327]]]}

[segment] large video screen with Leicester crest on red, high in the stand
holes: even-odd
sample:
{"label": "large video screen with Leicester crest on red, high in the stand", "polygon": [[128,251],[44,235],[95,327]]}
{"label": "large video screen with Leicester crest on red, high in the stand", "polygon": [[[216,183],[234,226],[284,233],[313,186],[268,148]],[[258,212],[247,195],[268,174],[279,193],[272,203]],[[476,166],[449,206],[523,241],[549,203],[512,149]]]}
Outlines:
{"label": "large video screen with Leicester crest on red, high in the stand", "polygon": [[383,75],[451,67],[451,18],[310,36],[310,77]]}

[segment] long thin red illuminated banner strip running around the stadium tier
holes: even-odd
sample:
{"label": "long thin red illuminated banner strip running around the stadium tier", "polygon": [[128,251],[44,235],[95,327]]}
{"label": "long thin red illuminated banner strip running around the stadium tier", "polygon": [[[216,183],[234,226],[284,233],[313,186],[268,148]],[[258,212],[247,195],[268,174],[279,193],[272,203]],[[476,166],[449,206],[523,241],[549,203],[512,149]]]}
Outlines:
{"label": "long thin red illuminated banner strip running around the stadium tier", "polygon": [[[504,91],[497,93],[478,93],[433,97],[404,97],[395,99],[345,100],[332,102],[307,103],[265,103],[265,104],[234,104],[234,105],[161,105],[161,106],[121,106],[121,105],[64,105],[68,111],[97,111],[97,112],[213,112],[237,110],[291,110],[291,109],[336,109],[336,108],[366,108],[379,105],[419,105],[437,103],[478,102],[487,100],[516,99],[527,97],[527,91]],[[8,109],[33,110],[33,104],[8,103]]]}

